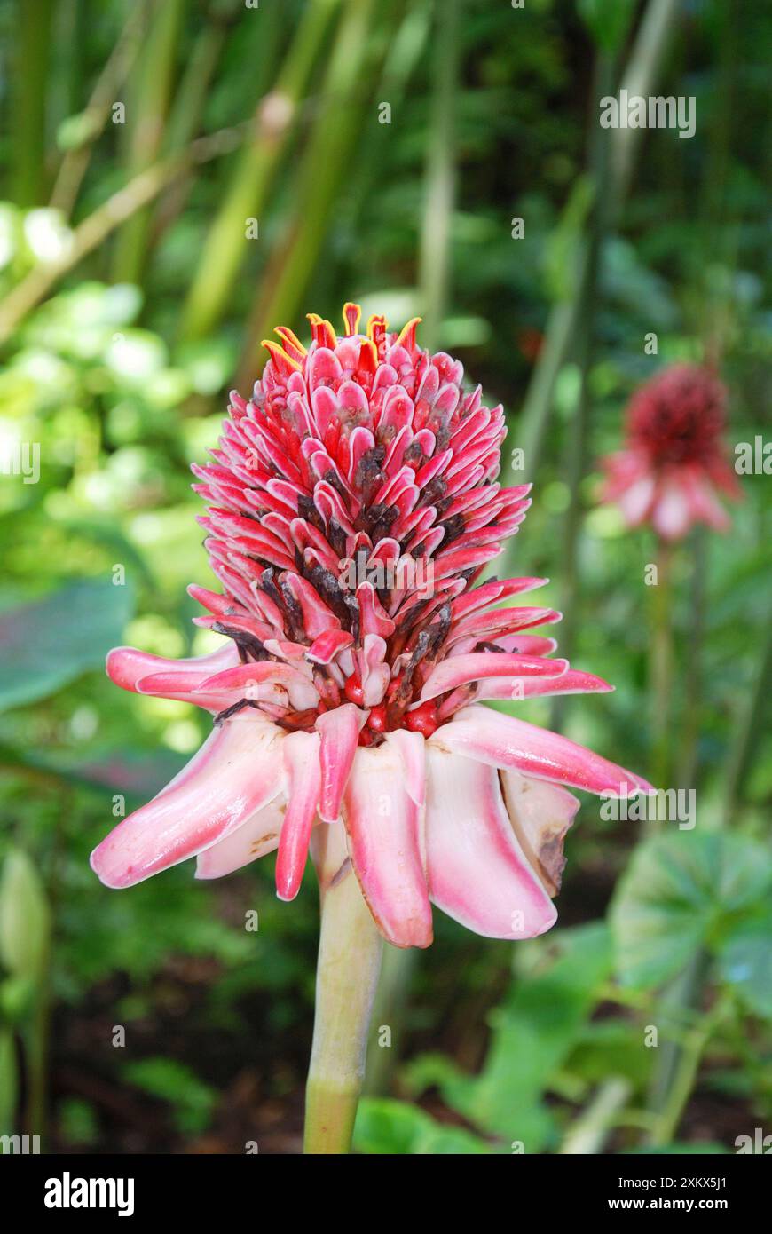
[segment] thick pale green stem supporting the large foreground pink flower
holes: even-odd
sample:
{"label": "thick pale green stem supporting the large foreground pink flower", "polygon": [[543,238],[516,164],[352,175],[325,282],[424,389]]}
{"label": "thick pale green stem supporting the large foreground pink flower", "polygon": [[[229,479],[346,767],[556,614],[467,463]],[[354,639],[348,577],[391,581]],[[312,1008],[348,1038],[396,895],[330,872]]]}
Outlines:
{"label": "thick pale green stem supporting the large foreground pink flower", "polygon": [[317,827],[322,930],[306,1087],[307,1154],[347,1154],[365,1075],[382,939],[345,849],[343,824]]}

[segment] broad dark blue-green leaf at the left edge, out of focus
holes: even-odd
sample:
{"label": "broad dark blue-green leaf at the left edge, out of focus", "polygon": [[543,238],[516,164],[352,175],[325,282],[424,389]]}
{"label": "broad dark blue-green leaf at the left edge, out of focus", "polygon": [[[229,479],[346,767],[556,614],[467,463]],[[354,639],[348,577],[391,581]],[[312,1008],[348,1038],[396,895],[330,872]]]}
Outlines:
{"label": "broad dark blue-green leaf at the left edge, out of focus", "polygon": [[0,613],[0,711],[54,694],[101,668],[133,612],[133,590],[84,579]]}

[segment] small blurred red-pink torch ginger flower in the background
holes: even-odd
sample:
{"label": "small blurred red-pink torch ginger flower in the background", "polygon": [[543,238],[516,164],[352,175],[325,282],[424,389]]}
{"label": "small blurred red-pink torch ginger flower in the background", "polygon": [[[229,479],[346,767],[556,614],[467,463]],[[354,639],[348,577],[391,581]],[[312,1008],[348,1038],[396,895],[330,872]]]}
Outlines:
{"label": "small blurred red-pink torch ginger flower in the background", "polygon": [[604,501],[629,527],[651,523],[662,539],[682,539],[693,523],[726,531],[717,490],[740,496],[724,457],[726,391],[708,369],[676,364],[638,390],[628,408],[626,443],[604,460]]}

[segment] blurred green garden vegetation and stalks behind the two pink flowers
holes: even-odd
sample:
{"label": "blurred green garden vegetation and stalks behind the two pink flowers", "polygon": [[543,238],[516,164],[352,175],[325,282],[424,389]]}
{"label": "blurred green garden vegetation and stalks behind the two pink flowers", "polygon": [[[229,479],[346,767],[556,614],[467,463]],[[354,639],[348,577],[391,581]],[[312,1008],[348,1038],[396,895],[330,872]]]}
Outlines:
{"label": "blurred green garden vegetation and stalks behind the two pink flowers", "polygon": [[[185,595],[212,585],[189,464],[271,327],[354,299],[419,313],[507,407],[535,492],[498,573],[552,578],[561,648],[617,685],[528,718],[651,771],[655,544],[597,505],[597,464],[675,359],[719,365],[730,448],[772,436],[772,10],[1,0],[0,37],[0,442],[41,447],[39,482],[0,475],[0,1132],[295,1153],[313,876],[292,906],[273,858],[211,887],[189,866],[97,884],[121,798],[210,724],[121,694],[105,652],[211,648]],[[601,131],[620,85],[693,95],[696,136]],[[390,956],[360,1151],[720,1153],[772,1130],[770,482],[744,478],[731,533],[675,554],[671,782],[697,789],[697,828],[646,835],[586,798],[555,933],[491,943],[438,913],[428,953]]]}

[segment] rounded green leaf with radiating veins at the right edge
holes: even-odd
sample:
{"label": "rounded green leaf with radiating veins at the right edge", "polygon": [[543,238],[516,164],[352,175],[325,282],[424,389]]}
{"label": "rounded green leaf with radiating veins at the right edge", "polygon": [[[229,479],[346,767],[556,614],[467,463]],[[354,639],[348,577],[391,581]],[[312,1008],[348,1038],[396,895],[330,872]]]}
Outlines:
{"label": "rounded green leaf with radiating veins at the right edge", "polygon": [[771,886],[766,849],[742,835],[693,830],[647,840],[610,909],[622,981],[641,987],[667,981],[700,948],[720,946]]}

